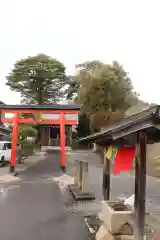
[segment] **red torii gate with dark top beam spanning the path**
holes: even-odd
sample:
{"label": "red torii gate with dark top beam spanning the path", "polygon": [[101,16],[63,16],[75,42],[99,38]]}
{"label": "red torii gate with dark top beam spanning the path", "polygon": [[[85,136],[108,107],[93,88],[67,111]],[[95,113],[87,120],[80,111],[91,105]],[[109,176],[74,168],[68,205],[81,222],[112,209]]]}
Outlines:
{"label": "red torii gate with dark top beam spanning the path", "polygon": [[[14,172],[16,167],[16,148],[18,137],[18,124],[57,124],[60,125],[60,166],[63,171],[66,168],[65,159],[65,125],[77,125],[80,106],[76,105],[0,105],[1,121],[12,123],[12,151],[10,171]],[[39,118],[21,118],[21,114],[41,114]],[[13,114],[7,118],[6,114]]]}

